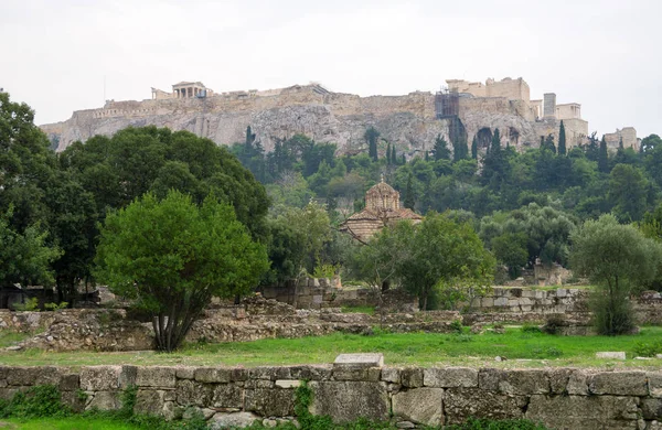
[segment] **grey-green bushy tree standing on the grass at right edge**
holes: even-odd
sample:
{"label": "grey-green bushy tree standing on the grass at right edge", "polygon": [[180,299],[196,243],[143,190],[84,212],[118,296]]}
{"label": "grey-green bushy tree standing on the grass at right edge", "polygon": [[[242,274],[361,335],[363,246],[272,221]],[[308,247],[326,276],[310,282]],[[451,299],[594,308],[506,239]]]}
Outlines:
{"label": "grey-green bushy tree standing on the grass at right edge", "polygon": [[600,334],[629,333],[633,325],[630,293],[654,279],[662,247],[615,216],[587,221],[572,235],[570,265],[596,283],[592,310]]}

